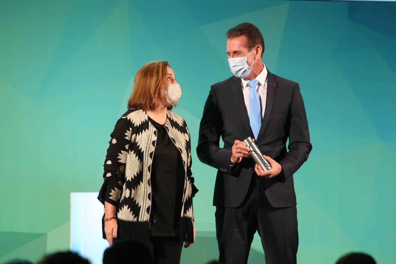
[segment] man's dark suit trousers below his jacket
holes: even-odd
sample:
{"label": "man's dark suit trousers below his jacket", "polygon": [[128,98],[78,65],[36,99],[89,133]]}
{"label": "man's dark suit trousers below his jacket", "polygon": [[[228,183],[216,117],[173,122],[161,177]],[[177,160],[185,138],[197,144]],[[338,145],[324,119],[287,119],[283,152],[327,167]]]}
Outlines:
{"label": "man's dark suit trousers below his jacket", "polygon": [[266,264],[297,262],[297,209],[272,207],[261,180],[253,174],[249,191],[237,208],[216,207],[216,236],[219,261],[226,264],[247,263],[256,231],[261,237]]}

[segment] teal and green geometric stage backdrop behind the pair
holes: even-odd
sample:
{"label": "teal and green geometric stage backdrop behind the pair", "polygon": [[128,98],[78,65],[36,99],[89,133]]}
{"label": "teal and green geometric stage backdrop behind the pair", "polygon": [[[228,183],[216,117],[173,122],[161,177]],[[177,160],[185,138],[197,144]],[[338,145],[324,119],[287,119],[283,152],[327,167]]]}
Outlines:
{"label": "teal and green geometric stage backdrop behind the pair", "polygon": [[[210,85],[231,76],[225,32],[251,22],[263,62],[299,82],[307,109],[313,150],[294,178],[299,263],[349,251],[395,263],[395,13],[378,2],[1,1],[0,262],[69,248],[70,192],[99,191],[143,64],[169,61],[195,150]],[[192,156],[197,238],[182,263],[198,264],[217,258],[216,171]],[[249,263],[263,263],[258,236]]]}

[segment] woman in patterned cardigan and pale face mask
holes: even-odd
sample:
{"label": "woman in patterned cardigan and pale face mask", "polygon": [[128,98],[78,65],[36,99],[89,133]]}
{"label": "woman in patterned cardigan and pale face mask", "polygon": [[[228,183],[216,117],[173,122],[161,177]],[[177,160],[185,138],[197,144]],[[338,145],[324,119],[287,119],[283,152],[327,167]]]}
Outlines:
{"label": "woman in patterned cardigan and pale face mask", "polygon": [[103,238],[141,239],[154,263],[180,263],[183,242],[195,240],[190,133],[171,110],[181,89],[167,61],[136,73],[128,111],[117,121],[98,199],[105,205]]}

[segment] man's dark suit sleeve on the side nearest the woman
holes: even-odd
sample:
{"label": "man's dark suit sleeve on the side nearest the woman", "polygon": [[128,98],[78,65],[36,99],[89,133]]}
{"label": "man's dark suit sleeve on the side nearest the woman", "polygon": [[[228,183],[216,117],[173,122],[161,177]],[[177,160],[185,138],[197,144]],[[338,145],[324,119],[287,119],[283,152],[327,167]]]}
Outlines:
{"label": "man's dark suit sleeve on the side nearest the woman", "polygon": [[197,155],[201,162],[232,174],[237,165],[230,166],[232,150],[220,148],[219,141],[223,129],[223,118],[213,85],[206,100],[199,128]]}

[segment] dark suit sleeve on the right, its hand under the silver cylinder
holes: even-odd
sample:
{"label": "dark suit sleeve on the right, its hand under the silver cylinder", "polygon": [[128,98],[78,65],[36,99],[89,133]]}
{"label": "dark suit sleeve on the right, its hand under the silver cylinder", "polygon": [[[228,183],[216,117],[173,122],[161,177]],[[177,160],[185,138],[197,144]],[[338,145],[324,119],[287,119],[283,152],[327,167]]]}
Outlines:
{"label": "dark suit sleeve on the right, its hand under the silver cylinder", "polygon": [[279,164],[282,166],[282,173],[284,174],[282,176],[285,177],[285,180],[289,180],[301,165],[303,165],[312,150],[307,114],[305,113],[304,101],[298,83],[294,86],[289,114],[289,145],[287,147],[289,151],[279,161]]}

